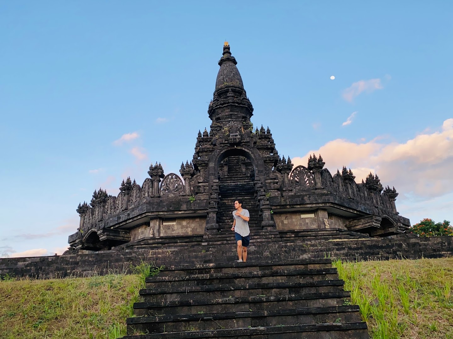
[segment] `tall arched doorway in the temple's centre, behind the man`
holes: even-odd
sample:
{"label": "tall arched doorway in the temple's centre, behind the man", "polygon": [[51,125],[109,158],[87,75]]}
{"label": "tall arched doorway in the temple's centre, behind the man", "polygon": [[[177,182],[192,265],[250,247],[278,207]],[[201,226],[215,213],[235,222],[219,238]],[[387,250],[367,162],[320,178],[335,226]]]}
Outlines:
{"label": "tall arched doorway in the temple's centre, behind the man", "polygon": [[233,237],[232,211],[234,201],[242,199],[242,208],[250,212],[250,231],[261,230],[263,218],[255,188],[255,160],[247,151],[239,148],[225,152],[217,160],[217,179],[219,180],[219,204],[217,224],[219,232]]}

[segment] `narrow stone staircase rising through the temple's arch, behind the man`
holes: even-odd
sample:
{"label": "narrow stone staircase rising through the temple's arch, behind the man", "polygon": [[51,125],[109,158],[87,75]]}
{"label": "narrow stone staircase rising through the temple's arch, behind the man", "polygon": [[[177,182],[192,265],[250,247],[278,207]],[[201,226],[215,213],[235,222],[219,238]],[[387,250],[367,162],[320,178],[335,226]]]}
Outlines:
{"label": "narrow stone staircase rising through the temple's arch, behind the man", "polygon": [[205,237],[207,245],[222,245],[236,243],[233,225],[234,202],[242,199],[242,208],[250,213],[250,236],[254,242],[279,241],[278,232],[264,231],[261,227],[263,218],[260,215],[260,207],[255,197],[255,186],[249,176],[241,169],[239,156],[228,158],[228,173],[220,180],[220,202],[218,204],[217,224],[218,234]]}

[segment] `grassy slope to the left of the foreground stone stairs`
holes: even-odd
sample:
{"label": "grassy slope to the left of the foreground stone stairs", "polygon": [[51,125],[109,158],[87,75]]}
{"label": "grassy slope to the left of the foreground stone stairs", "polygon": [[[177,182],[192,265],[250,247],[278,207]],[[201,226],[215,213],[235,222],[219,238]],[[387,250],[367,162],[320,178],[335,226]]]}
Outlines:
{"label": "grassy slope to the left of the foreground stone stairs", "polygon": [[125,318],[145,278],[160,268],[142,263],[132,275],[0,282],[0,337],[3,339],[116,339],[126,334]]}

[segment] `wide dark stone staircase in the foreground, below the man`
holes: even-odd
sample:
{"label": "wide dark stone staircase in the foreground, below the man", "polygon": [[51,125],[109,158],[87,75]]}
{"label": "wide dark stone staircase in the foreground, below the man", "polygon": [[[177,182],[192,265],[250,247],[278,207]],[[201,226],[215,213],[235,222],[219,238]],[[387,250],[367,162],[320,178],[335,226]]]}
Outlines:
{"label": "wide dark stone staircase in the foreground, below the man", "polygon": [[330,259],[218,257],[216,264],[170,266],[147,278],[124,338],[369,338]]}

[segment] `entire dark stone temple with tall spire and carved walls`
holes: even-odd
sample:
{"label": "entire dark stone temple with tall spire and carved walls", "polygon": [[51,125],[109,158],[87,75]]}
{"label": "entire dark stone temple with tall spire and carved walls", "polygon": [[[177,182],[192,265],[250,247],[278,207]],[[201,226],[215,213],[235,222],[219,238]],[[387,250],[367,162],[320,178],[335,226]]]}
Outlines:
{"label": "entire dark stone temple with tall spire and carved walls", "polygon": [[396,211],[395,188],[384,189],[377,175],[357,184],[346,167],[332,175],[321,155],[297,167],[280,156],[270,128],[253,127],[253,106],[227,42],[218,64],[207,110],[212,123],[198,131],[192,160],[179,175],[152,164],[141,186],[127,178],[117,197],[95,191],[77,208],[80,227],[66,254],[234,244],[237,198],[250,211],[254,243],[384,237],[410,227]]}

